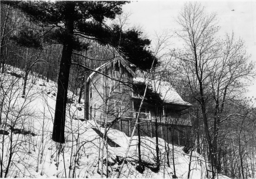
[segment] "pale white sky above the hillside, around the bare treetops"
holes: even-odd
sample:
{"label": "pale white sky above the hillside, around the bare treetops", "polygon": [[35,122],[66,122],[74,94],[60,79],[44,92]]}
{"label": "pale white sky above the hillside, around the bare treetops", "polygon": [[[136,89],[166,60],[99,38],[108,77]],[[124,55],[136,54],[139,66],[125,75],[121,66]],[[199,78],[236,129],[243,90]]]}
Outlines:
{"label": "pale white sky above the hillside, around the bare treetops", "polygon": [[[130,25],[140,25],[149,39],[155,31],[161,33],[164,29],[172,31],[179,28],[175,22],[185,1],[133,1],[123,6],[124,12],[132,12]],[[256,62],[256,0],[253,1],[201,1],[205,12],[216,12],[220,25],[220,37],[224,33],[234,31],[236,38],[243,38],[251,60]],[[234,11],[231,11],[234,10]],[[177,39],[172,39],[178,46]],[[256,97],[256,81],[249,87],[248,97]]]}

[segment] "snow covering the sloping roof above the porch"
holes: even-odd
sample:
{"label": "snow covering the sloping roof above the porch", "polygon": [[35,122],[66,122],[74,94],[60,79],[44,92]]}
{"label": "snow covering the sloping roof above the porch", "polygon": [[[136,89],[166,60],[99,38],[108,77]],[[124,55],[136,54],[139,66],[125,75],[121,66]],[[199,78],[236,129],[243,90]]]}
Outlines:
{"label": "snow covering the sloping roof above the porch", "polygon": [[[145,78],[133,78],[132,81],[136,84],[139,82],[146,83],[148,80]],[[172,85],[169,82],[159,81],[159,80],[150,80],[148,85],[151,89],[160,93],[161,98],[164,100],[165,103],[172,103],[178,105],[188,105],[192,106],[180,97],[180,95],[175,91]]]}

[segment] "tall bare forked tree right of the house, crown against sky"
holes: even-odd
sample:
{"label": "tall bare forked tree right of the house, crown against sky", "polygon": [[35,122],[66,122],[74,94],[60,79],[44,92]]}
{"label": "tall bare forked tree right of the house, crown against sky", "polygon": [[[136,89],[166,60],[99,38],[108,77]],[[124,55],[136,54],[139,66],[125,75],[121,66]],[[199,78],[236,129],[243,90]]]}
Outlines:
{"label": "tall bare forked tree right of the house, crown against sky", "polygon": [[243,88],[242,80],[255,75],[254,64],[248,63],[241,39],[226,35],[220,43],[215,38],[219,29],[216,14],[205,14],[200,4],[185,4],[176,21],[181,26],[177,35],[185,42],[185,51],[176,55],[182,66],[181,78],[186,79],[186,88],[201,107],[214,178],[225,106]]}

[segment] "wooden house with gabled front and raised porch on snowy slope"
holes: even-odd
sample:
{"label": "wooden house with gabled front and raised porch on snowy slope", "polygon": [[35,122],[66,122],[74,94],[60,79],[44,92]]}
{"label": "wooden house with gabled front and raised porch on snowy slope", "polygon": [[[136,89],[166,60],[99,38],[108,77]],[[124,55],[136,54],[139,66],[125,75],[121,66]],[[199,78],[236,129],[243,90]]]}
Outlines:
{"label": "wooden house with gabled front and raised porch on snowy slope", "polygon": [[[158,95],[146,99],[140,112],[140,135],[161,137],[168,142],[186,145],[191,134],[188,102],[182,100],[171,84],[161,80],[147,81],[135,74],[135,68],[117,58],[95,69],[86,81],[85,119],[121,130],[130,136],[136,121],[142,93]],[[143,88],[144,85],[144,88]],[[142,87],[138,90],[139,87]],[[159,100],[157,100],[159,99]],[[161,101],[161,105],[159,105]],[[135,135],[138,135],[135,131]]]}

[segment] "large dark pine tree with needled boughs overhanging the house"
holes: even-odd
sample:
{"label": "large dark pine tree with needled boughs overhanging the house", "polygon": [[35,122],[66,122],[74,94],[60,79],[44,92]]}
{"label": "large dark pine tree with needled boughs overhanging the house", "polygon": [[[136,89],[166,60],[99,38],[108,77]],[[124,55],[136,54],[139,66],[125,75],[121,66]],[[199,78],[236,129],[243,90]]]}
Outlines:
{"label": "large dark pine tree with needled boughs overhanging the house", "polygon": [[72,52],[83,51],[88,47],[83,43],[83,39],[92,39],[100,44],[110,44],[118,48],[126,60],[141,69],[151,67],[150,64],[154,57],[146,49],[150,40],[141,38],[141,32],[136,29],[122,32],[119,26],[108,27],[104,23],[106,19],[114,19],[117,14],[120,14],[121,7],[125,3],[127,2],[21,1],[15,5],[25,13],[30,21],[44,28],[41,37],[49,43],[63,45],[52,133],[53,141],[65,142],[64,128],[71,56]]}

